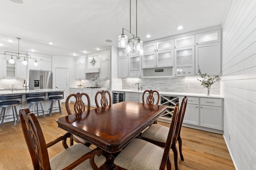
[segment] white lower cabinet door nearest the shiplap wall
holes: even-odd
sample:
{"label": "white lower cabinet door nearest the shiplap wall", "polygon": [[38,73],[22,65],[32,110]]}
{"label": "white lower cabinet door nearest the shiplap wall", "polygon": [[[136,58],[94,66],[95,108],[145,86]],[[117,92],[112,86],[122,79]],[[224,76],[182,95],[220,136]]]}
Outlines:
{"label": "white lower cabinet door nearest the shiplap wall", "polygon": [[200,126],[223,130],[222,107],[200,106]]}

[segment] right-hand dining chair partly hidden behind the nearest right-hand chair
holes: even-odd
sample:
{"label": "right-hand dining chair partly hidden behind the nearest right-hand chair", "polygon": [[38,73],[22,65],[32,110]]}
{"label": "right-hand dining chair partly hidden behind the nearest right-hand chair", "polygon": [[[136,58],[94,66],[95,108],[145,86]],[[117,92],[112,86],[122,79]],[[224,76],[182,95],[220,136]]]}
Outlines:
{"label": "right-hand dining chair partly hidden behind the nearest right-hand chair", "polygon": [[[174,137],[171,145],[171,149],[174,154],[174,165],[176,170],[178,170],[178,151],[176,147],[177,141],[179,143],[180,158],[181,160],[184,160],[184,157],[182,154],[182,139],[180,136],[180,129],[182,127],[182,122],[183,122],[183,118],[186,111],[187,101],[188,101],[188,97],[185,96],[182,99],[182,103],[179,110],[179,114],[181,115],[181,118],[180,118],[180,123],[178,127],[178,135]],[[159,147],[165,147],[167,137],[168,137],[168,131],[169,131],[168,127],[158,125],[158,124],[153,124],[141,134],[141,137],[143,140],[148,141],[150,143],[154,143]]]}

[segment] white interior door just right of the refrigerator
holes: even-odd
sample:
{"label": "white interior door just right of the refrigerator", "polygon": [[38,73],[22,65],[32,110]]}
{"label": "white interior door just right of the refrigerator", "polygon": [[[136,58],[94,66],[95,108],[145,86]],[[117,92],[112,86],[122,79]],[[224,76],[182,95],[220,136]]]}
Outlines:
{"label": "white interior door just right of the refrigerator", "polygon": [[64,91],[64,99],[60,100],[60,102],[65,103],[67,98],[67,68],[55,68],[56,76],[55,76],[55,88],[56,89],[65,89]]}

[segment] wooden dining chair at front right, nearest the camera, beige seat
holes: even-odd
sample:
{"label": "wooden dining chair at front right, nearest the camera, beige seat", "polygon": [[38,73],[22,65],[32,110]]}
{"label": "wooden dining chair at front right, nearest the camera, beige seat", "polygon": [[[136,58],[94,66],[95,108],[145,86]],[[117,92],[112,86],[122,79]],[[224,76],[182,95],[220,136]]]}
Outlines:
{"label": "wooden dining chair at front right, nearest the camera, beige seat", "polygon": [[178,135],[180,113],[175,106],[164,150],[142,139],[133,139],[114,160],[116,170],[171,170],[170,147]]}

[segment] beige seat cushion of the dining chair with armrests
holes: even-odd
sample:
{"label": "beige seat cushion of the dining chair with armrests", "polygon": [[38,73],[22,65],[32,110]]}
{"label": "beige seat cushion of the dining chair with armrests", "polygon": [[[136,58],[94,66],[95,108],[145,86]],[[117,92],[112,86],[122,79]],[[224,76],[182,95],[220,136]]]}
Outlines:
{"label": "beige seat cushion of the dining chair with armrests", "polygon": [[[50,159],[51,169],[61,170],[90,151],[91,149],[84,146],[83,144],[78,143],[76,145],[73,145]],[[106,158],[102,155],[101,156],[96,155],[94,157],[94,162],[96,163],[97,167],[100,167],[106,162]],[[84,162],[76,166],[76,168],[74,168],[74,170],[84,170],[84,169],[93,170],[90,165],[89,159],[85,160]]]}

